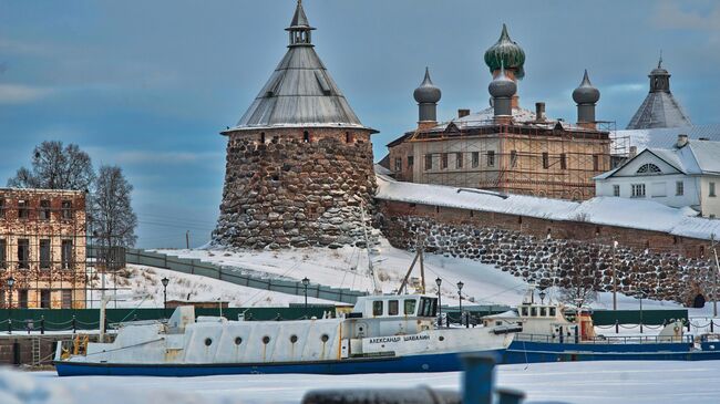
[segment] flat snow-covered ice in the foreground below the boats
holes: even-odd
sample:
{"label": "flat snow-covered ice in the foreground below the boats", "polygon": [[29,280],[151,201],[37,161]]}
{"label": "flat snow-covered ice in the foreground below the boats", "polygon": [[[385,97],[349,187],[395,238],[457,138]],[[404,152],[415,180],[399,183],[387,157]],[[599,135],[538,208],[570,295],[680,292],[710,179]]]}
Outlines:
{"label": "flat snow-covered ice in the foreground below the boats", "polygon": [[[0,372],[0,402],[14,403],[299,403],[313,389],[459,390],[461,373],[422,375],[243,375],[193,379],[72,377],[51,372]],[[720,361],[575,362],[503,365],[497,385],[527,394],[525,403],[717,403]],[[21,391],[35,400],[12,401]]]}

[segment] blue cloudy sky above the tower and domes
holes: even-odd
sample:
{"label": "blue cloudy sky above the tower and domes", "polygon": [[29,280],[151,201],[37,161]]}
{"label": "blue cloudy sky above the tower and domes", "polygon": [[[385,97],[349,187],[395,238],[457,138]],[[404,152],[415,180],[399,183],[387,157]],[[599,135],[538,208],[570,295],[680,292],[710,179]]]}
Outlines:
{"label": "blue cloudy sky above the tower and domes", "polygon": [[[521,104],[574,122],[587,69],[598,120],[625,127],[662,51],[695,124],[720,123],[720,2],[305,0],[316,51],[374,157],[414,128],[430,66],[440,121],[488,105],[485,50],[507,23],[525,51]],[[134,186],[138,247],[209,239],[226,139],[286,51],[294,0],[0,0],[0,186],[42,141],[75,143]]]}

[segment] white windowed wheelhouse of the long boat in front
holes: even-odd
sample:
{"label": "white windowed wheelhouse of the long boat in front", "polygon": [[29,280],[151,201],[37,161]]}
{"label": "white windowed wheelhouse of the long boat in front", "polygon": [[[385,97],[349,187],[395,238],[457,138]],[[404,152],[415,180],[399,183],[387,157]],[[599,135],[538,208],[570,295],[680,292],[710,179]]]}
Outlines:
{"label": "white windowed wheelhouse of the long boat in front", "polygon": [[402,318],[434,319],[438,315],[438,298],[424,294],[381,294],[358,298],[348,318]]}

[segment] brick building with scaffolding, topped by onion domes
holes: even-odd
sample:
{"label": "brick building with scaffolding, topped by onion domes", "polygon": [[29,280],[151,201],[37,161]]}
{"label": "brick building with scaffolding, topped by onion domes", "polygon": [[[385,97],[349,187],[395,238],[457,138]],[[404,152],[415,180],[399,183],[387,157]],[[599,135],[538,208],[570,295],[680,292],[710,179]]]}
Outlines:
{"label": "brick building with scaffolding, topped by onion domes", "polygon": [[609,125],[595,117],[600,93],[585,72],[573,93],[575,124],[546,117],[544,103],[535,112],[525,110],[517,95],[524,62],[525,52],[503,25],[500,40],[485,52],[492,105],[476,113],[459,110],[456,118],[444,123],[435,116],[440,89],[426,71],[414,92],[418,126],[388,145],[387,168],[405,182],[592,198],[593,177],[611,168],[613,154],[627,152],[611,142]]}

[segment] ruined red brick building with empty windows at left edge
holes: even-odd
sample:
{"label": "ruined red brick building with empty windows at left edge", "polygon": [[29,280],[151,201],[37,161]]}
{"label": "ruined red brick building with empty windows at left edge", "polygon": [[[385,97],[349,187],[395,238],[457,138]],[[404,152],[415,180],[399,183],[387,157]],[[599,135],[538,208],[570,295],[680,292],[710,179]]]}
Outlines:
{"label": "ruined red brick building with empty windows at left edge", "polygon": [[0,286],[3,308],[85,307],[84,193],[0,188]]}

